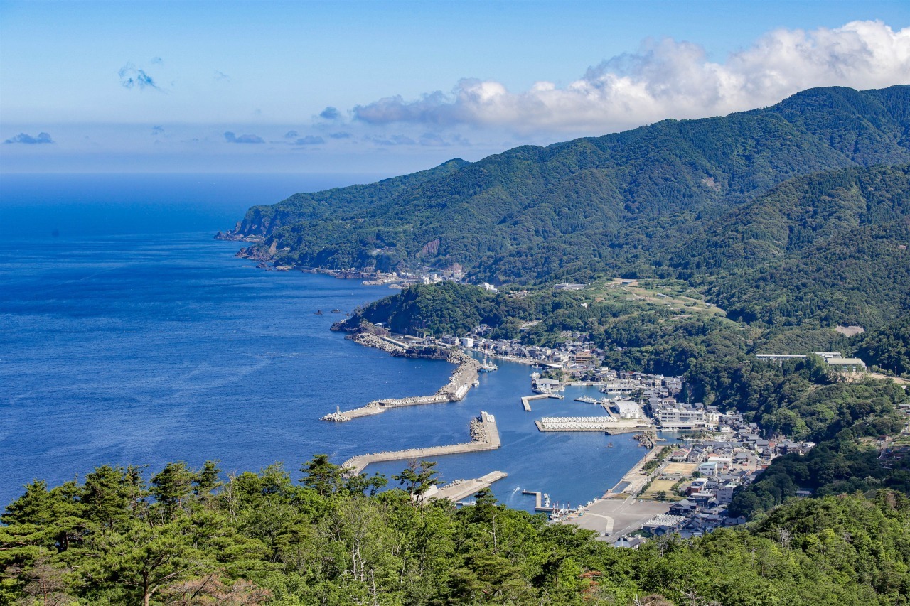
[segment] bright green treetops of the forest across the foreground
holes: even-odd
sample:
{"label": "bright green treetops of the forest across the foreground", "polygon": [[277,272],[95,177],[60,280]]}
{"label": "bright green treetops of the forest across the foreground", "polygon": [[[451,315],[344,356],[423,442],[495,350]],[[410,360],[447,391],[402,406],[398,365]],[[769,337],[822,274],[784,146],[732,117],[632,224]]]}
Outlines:
{"label": "bright green treetops of the forest across the foreground", "polygon": [[792,500],[750,525],[637,550],[488,491],[420,504],[432,466],[346,478],[318,455],[222,479],[172,463],[26,487],[0,526],[0,604],[904,605],[910,500]]}

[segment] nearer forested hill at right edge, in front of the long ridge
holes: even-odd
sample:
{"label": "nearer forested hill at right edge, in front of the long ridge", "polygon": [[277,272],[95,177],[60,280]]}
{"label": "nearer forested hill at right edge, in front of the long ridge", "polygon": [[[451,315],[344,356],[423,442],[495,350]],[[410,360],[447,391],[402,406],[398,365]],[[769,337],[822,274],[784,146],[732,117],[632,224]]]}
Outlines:
{"label": "nearer forested hill at right edge, in front of the long ridge", "polygon": [[666,259],[729,318],[883,326],[910,309],[910,165],[794,178]]}

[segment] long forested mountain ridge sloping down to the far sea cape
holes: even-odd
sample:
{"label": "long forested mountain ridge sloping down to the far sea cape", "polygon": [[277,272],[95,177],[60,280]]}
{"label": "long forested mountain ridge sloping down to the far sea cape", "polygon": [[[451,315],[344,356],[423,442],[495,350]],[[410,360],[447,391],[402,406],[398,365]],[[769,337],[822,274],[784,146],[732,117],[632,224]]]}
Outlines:
{"label": "long forested mountain ridge sloping down to the far sea cape", "polygon": [[232,237],[281,264],[460,264],[494,281],[649,268],[789,178],[910,161],[910,86],[816,88],[776,106],[453,160],[370,186],[251,208]]}

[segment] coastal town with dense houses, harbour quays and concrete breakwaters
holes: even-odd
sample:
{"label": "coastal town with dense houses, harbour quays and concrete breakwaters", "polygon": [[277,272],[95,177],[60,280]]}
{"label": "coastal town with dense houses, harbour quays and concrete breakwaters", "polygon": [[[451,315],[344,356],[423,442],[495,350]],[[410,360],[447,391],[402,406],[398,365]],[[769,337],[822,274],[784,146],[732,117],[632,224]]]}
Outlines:
{"label": "coastal town with dense houses, harbour quays and concrete breakwaters", "polygon": [[[756,480],[776,457],[791,453],[804,455],[814,447],[811,441],[763,436],[756,423],[746,421],[736,411],[687,401],[681,377],[607,368],[602,363],[604,352],[591,347],[582,333],[568,333],[558,347],[545,348],[523,345],[517,340],[486,338],[483,326],[465,336],[441,338],[392,335],[381,326],[371,330],[350,338],[392,355],[405,355],[412,350],[447,351],[447,359],[456,365],[449,383],[430,396],[375,400],[360,409],[338,409],[323,417],[324,420],[345,422],[389,408],[458,401],[478,385],[479,372],[497,369],[491,361],[496,359],[531,367],[532,393],[518,398],[527,412],[532,412],[535,400],[563,399],[562,392],[570,386],[598,389],[602,393],[600,399],[588,396],[576,399],[596,406],[597,414],[542,417],[533,422],[541,431],[598,431],[607,436],[634,433],[634,439],[647,452],[602,498],[574,508],[553,504],[550,496],[541,492],[526,494],[536,497],[535,510],[549,514],[551,520],[594,530],[599,539],[618,547],[637,547],[649,538],[664,535],[697,537],[718,528],[743,524],[746,521],[743,517],[727,514],[735,491]],[[854,374],[865,370],[862,360],[844,359],[840,352],[812,353],[824,359],[832,372]],[[759,354],[756,358],[782,364],[787,359],[805,356]],[[488,429],[479,434],[480,438],[472,434],[471,442],[361,455],[349,463],[362,470],[373,460],[414,460],[499,448],[498,432],[494,425],[490,426],[488,417],[491,415],[481,413],[479,419],[487,423]],[[496,432],[495,436],[489,436],[489,427]],[[436,498],[457,494],[465,499],[473,494],[467,487],[487,487],[506,475],[496,471],[476,480],[456,480],[443,487]],[[797,496],[811,494],[809,490],[800,490]]]}

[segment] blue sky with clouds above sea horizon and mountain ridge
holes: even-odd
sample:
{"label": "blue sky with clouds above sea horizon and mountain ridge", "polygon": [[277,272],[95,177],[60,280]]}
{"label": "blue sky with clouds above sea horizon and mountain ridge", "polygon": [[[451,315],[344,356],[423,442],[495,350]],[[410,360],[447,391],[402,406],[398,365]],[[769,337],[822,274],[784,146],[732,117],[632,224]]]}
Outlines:
{"label": "blue sky with clouds above sea horizon and mountain ridge", "polygon": [[0,3],[0,171],[399,174],[908,83],[897,1]]}

